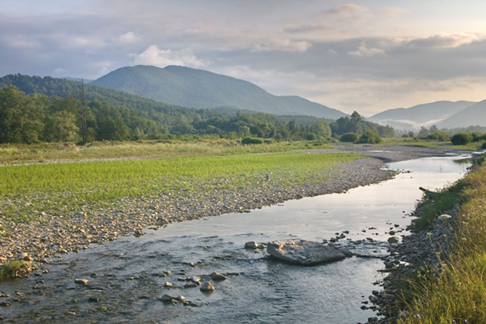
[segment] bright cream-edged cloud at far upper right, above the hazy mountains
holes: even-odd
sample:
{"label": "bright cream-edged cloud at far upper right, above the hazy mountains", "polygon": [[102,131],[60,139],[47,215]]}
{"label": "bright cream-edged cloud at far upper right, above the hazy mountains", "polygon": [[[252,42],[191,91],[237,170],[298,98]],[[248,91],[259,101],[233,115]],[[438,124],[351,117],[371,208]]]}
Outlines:
{"label": "bright cream-edged cloud at far upper right, above the hazy mountains", "polygon": [[438,34],[410,39],[406,43],[411,47],[455,48],[478,41],[479,37],[470,33]]}

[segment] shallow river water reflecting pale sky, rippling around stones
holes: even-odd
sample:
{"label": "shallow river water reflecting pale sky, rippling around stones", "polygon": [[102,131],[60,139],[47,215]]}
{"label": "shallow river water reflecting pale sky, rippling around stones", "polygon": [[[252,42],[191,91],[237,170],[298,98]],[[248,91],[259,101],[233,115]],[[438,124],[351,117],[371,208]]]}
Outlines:
{"label": "shallow river water reflecting pale sky, rippling around stones", "polygon": [[[391,163],[387,167],[405,172],[377,185],[149,227],[139,238],[92,244],[53,258],[49,273],[0,284],[0,305],[11,303],[0,307],[0,318],[4,323],[366,322],[375,313],[360,307],[372,290],[380,290],[379,256],[387,254],[388,231],[401,231],[397,237],[407,233],[412,219],[407,214],[422,195],[418,187],[442,188],[463,176],[468,165],[458,159]],[[342,244],[371,257],[302,267],[243,248],[246,241],[322,241],[343,231],[349,234]],[[364,243],[352,243],[357,240]],[[213,281],[211,294],[184,288],[188,281],[178,280],[197,275],[205,281],[213,271],[229,275]],[[75,278],[88,283],[75,284]],[[165,282],[173,287],[164,287]],[[10,297],[1,297],[6,294]],[[197,306],[162,303],[157,298],[163,294],[183,295]]]}

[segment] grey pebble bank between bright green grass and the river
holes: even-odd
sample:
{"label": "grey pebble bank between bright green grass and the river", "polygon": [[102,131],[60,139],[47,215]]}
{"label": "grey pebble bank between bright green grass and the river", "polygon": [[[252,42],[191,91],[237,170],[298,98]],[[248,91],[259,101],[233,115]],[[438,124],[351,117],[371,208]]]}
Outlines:
{"label": "grey pebble bank between bright green grass and the river", "polygon": [[376,146],[344,146],[342,149],[375,158],[342,164],[330,171],[327,181],[321,184],[283,187],[273,184],[268,175],[262,175],[269,184],[265,188],[125,198],[104,209],[90,210],[86,206],[69,215],[39,212],[34,222],[1,221],[0,228],[9,235],[1,238],[0,262],[21,257],[40,264],[49,262],[54,254],[85,249],[90,243],[113,240],[118,235],[143,235],[143,228],[149,225],[163,226],[204,216],[243,212],[290,199],[343,192],[393,177],[396,171],[381,169],[385,159],[397,161],[446,154],[441,150],[410,147],[378,147],[377,150]]}

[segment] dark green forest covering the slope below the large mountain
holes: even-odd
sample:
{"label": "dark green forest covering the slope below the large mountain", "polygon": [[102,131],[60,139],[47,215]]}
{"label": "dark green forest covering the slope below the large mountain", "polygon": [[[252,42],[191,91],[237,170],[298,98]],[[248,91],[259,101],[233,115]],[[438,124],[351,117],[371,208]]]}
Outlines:
{"label": "dark green forest covering the slope below the large mountain", "polygon": [[163,139],[181,135],[275,140],[325,140],[394,129],[357,112],[335,121],[276,116],[231,107],[195,109],[156,102],[102,86],[20,74],[0,79],[0,143]]}

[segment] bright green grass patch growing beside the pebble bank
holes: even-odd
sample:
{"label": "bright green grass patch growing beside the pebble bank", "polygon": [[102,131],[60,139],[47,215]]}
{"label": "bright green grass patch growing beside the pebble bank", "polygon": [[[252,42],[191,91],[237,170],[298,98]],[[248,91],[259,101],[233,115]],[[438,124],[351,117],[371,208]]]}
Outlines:
{"label": "bright green grass patch growing beside the pebble bank", "polygon": [[282,187],[323,182],[350,153],[265,153],[85,163],[6,166],[0,172],[0,216],[35,221],[40,212],[65,215],[120,198],[183,198],[216,190],[265,187],[267,174]]}

